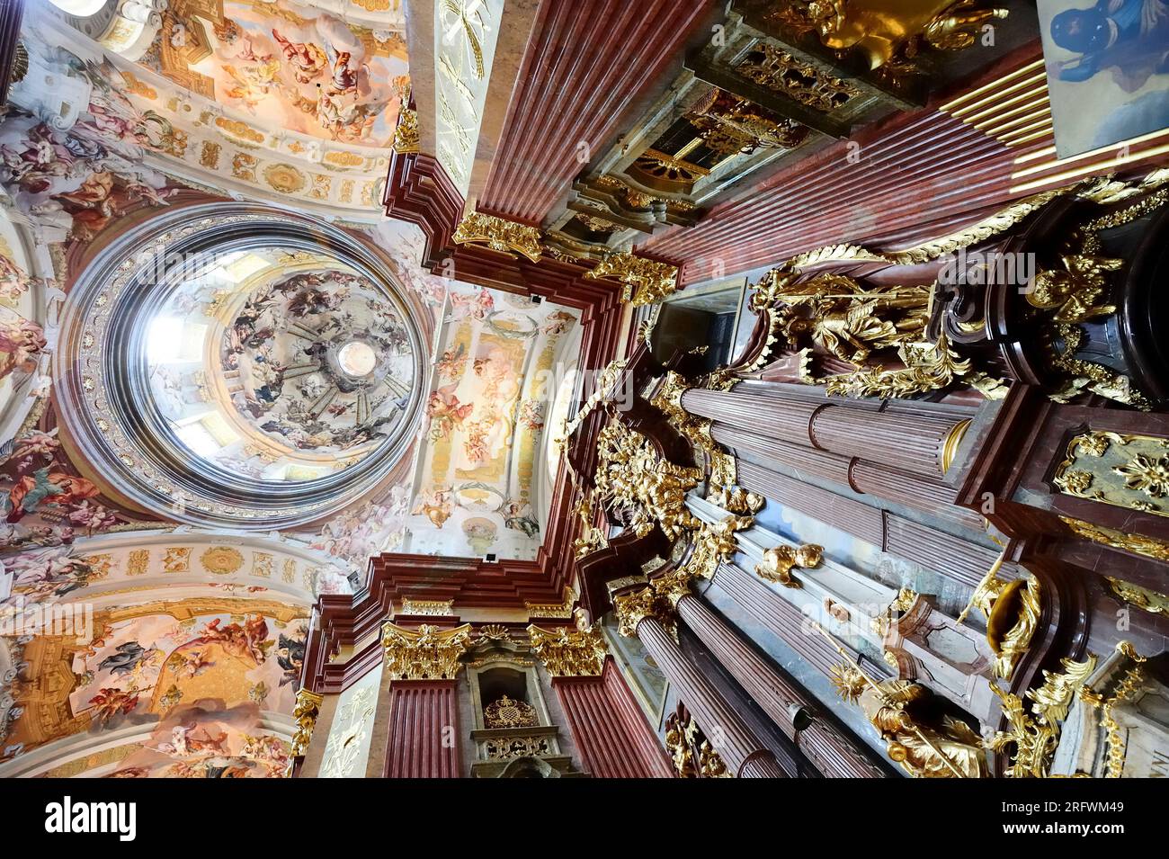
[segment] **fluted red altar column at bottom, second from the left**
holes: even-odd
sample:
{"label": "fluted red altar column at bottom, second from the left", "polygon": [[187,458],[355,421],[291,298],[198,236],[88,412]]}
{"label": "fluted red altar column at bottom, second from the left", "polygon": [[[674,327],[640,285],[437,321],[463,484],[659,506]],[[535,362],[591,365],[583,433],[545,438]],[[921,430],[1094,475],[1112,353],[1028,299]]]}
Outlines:
{"label": "fluted red altar column at bottom, second from the left", "polygon": [[[830,722],[814,715],[816,705],[804,692],[789,683],[739,635],[693,595],[677,604],[678,617],[710,647],[711,653],[739,681],[755,702],[783,733],[796,741],[808,760],[822,774],[836,778],[884,778],[885,773],[853,740],[844,736]],[[811,723],[796,732],[791,711],[804,708],[812,714]]]}

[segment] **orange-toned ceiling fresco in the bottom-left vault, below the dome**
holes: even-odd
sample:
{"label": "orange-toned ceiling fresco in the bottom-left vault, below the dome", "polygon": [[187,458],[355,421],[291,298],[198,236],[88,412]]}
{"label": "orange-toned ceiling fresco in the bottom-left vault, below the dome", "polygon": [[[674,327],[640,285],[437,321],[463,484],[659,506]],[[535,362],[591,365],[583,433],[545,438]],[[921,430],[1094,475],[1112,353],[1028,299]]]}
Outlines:
{"label": "orange-toned ceiling fresco in the bottom-left vault, below the dome", "polygon": [[[88,638],[18,640],[20,659],[40,670],[35,679],[12,685],[22,712],[8,726],[0,762],[43,768],[44,761],[62,762],[84,748],[85,735],[120,737],[140,726],[148,739],[126,749],[130,754],[160,753],[181,764],[196,763],[191,758],[199,751],[254,753],[260,771],[253,775],[282,775],[288,736],[260,730],[258,716],[291,713],[307,615],[307,607],[262,600],[146,603],[96,611]],[[241,707],[247,718],[231,714]],[[212,729],[208,719],[249,726],[244,733],[255,732],[260,746],[243,753],[226,742],[223,734],[231,732],[222,725]]]}

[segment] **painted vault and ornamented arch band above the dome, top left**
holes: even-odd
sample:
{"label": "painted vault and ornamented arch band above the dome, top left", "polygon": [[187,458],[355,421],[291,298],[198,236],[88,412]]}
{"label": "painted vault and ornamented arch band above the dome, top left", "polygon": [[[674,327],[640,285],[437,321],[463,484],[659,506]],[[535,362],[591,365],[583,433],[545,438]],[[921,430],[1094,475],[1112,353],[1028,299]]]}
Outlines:
{"label": "painted vault and ornamented arch band above the dome, top left", "polygon": [[[11,93],[28,118],[6,124],[11,153],[0,181],[19,185],[27,207],[44,209],[42,220],[51,214],[90,235],[127,203],[157,205],[178,186],[380,220],[389,141],[408,89],[401,13],[346,11],[344,23],[283,4],[238,8],[244,25],[233,26],[210,4],[188,11],[187,27],[172,6],[139,56],[87,39],[51,6],[32,7],[22,34],[29,71]],[[189,60],[199,39],[228,51],[192,67],[207,75],[177,58]],[[46,144],[51,168],[41,166]],[[32,157],[37,152],[41,160]]]}

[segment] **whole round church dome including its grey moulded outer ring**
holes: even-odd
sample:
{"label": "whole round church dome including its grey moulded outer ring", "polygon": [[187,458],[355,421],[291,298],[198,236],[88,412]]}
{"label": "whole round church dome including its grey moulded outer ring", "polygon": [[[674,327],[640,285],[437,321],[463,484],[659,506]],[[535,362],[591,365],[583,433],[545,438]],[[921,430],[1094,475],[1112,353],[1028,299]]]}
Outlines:
{"label": "whole round church dome including its grey moulded outer ring", "polygon": [[219,203],[152,219],[72,288],[68,437],[146,510],[316,519],[409,446],[426,349],[400,290],[371,248],[291,213]]}

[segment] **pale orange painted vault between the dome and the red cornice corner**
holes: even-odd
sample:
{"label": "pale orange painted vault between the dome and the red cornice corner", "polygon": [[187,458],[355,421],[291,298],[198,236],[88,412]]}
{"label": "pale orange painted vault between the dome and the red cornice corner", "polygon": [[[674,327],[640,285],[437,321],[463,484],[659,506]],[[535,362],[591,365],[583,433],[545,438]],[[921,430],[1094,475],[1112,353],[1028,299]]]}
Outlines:
{"label": "pale orange painted vault between the dome and the red cornice corner", "polygon": [[394,249],[403,283],[442,313],[426,420],[413,473],[338,514],[314,547],[358,564],[393,550],[535,557],[548,463],[559,460],[549,415],[573,389],[575,311],[426,273],[410,224],[387,222],[373,236]]}

